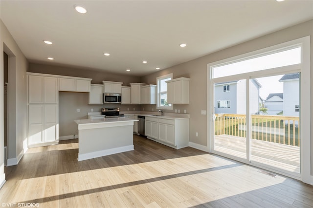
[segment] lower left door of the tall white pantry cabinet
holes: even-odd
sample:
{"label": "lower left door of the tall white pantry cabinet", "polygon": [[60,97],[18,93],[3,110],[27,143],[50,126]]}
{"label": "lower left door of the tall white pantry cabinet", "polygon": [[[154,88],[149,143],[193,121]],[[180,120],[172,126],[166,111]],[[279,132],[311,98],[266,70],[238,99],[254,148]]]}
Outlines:
{"label": "lower left door of the tall white pantry cabinet", "polygon": [[44,142],[44,105],[28,107],[28,144]]}

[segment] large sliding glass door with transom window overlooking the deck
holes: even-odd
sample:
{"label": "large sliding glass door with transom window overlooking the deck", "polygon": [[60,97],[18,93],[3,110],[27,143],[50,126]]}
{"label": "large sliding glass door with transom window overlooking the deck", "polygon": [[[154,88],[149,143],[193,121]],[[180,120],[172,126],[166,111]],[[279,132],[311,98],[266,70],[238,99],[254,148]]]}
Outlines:
{"label": "large sliding glass door with transom window overlooking the deck", "polygon": [[310,160],[303,157],[310,149],[302,144],[310,144],[302,139],[310,135],[310,114],[301,117],[310,112],[310,105],[300,96],[308,92],[300,90],[302,80],[309,81],[302,75],[310,70],[302,68],[302,47],[208,67],[211,152],[303,181],[310,178]]}

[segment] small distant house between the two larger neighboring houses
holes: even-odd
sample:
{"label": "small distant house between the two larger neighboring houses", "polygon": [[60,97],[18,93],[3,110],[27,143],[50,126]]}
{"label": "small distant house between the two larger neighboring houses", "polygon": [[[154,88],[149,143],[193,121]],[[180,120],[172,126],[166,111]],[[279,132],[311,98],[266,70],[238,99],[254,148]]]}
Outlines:
{"label": "small distant house between the two larger neighboring houses", "polygon": [[264,107],[268,109],[268,115],[276,115],[283,111],[283,93],[268,94],[267,99],[264,101]]}

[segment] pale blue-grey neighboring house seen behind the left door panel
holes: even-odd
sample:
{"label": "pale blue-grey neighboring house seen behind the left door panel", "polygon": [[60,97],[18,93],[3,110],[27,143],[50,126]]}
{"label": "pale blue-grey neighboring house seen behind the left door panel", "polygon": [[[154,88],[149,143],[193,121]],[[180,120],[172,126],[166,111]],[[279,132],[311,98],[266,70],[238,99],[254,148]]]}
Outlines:
{"label": "pale blue-grey neighboring house seen behind the left door panel", "polygon": [[[261,84],[256,79],[251,79],[250,113],[259,112]],[[246,113],[246,83],[245,80],[221,82],[215,84],[214,90],[215,113]]]}

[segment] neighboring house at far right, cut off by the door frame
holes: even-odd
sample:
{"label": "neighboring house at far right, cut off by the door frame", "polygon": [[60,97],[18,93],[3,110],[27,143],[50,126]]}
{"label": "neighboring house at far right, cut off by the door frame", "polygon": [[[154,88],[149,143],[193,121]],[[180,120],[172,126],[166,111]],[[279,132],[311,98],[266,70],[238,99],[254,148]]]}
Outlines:
{"label": "neighboring house at far right, cut off by the door frame", "polygon": [[284,83],[284,115],[299,116],[300,115],[300,83],[299,73],[293,73],[282,76],[279,81]]}

